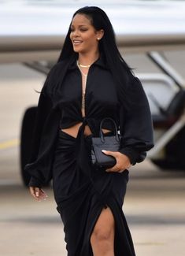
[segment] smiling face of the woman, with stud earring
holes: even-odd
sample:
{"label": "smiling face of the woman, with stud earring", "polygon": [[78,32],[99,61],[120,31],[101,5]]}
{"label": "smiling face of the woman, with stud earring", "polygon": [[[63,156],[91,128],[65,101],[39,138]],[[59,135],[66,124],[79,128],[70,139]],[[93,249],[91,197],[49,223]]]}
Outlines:
{"label": "smiling face of the woman, with stud earring", "polygon": [[89,20],[83,14],[76,14],[72,19],[70,39],[73,50],[76,53],[87,54],[98,50],[98,39],[101,39],[103,31],[96,31]]}

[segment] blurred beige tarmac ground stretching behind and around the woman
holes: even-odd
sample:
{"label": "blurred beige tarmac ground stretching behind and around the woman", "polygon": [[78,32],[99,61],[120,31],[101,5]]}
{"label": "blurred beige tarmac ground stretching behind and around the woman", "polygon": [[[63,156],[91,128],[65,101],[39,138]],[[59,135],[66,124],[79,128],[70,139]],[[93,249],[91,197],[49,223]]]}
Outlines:
{"label": "blurred beige tarmac ground stretching behind and around the woman", "polygon": [[[180,63],[182,54],[172,58]],[[171,60],[172,60],[171,58]],[[140,71],[145,61],[131,58]],[[178,62],[179,60],[179,62]],[[154,68],[155,69],[155,68]],[[156,70],[153,70],[154,72]],[[36,104],[44,76],[21,65],[0,65],[0,255],[65,256],[63,224],[52,187],[35,202],[22,185],[20,124],[25,108]],[[149,160],[130,169],[123,210],[137,256],[185,253],[185,171],[162,171]]]}

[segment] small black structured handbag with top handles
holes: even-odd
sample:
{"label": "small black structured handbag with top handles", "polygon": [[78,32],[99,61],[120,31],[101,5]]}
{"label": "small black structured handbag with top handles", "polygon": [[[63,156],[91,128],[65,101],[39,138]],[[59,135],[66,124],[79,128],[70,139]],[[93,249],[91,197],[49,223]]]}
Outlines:
{"label": "small black structured handbag with top handles", "polygon": [[[105,136],[102,132],[102,124],[104,121],[111,121],[114,127],[114,135]],[[92,137],[91,144],[91,160],[92,165],[97,167],[113,167],[116,164],[116,158],[104,154],[102,150],[117,151],[120,149],[120,135],[117,132],[117,124],[110,117],[105,117],[100,123],[99,137]]]}

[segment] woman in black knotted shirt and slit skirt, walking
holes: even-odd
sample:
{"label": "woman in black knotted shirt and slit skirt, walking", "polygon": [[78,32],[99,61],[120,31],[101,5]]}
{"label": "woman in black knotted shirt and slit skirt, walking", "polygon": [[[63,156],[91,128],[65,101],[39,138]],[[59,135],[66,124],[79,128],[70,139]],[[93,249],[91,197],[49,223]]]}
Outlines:
{"label": "woman in black knotted shirt and slit skirt, walking", "polygon": [[[111,117],[123,136],[112,168],[91,165],[91,137]],[[105,122],[103,132],[112,135]],[[150,108],[142,85],[120,56],[113,27],[98,7],[76,11],[61,56],[39,98],[32,145],[31,195],[53,179],[68,256],[135,255],[122,211],[128,168],[153,147]]]}

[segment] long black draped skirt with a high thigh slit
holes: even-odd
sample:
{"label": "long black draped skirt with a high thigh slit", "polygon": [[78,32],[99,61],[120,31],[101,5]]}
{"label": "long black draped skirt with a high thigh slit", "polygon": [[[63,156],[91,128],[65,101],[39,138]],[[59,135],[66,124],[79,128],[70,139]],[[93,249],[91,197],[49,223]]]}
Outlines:
{"label": "long black draped skirt with a high thigh slit", "polygon": [[[111,134],[111,133],[109,133]],[[92,256],[91,233],[102,209],[109,207],[115,220],[115,256],[134,256],[131,234],[122,211],[128,170],[106,173],[91,165],[91,135],[85,137],[91,175],[77,164],[76,138],[60,131],[54,157],[53,187],[57,210],[64,223],[68,256]]]}

